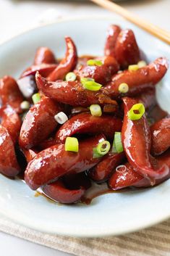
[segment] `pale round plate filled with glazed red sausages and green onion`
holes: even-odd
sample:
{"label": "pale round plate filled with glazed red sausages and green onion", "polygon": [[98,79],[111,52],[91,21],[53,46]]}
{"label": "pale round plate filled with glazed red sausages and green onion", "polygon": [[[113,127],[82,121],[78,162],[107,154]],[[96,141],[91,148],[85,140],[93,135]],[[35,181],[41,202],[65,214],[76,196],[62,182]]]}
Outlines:
{"label": "pale round plate filled with glazed red sausages and green onion", "polygon": [[168,45],[113,17],[1,44],[0,213],[86,237],[169,218],[169,58]]}

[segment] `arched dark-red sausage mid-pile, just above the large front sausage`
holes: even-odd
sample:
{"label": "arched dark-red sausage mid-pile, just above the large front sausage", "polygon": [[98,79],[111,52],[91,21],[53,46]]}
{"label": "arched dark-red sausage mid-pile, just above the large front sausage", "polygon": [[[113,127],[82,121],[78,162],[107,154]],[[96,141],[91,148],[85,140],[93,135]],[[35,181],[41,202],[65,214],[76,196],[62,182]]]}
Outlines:
{"label": "arched dark-red sausage mid-pile, just above the large front sausage", "polygon": [[56,132],[56,141],[64,143],[68,136],[75,133],[103,133],[106,138],[113,139],[115,131],[121,131],[122,120],[111,115],[102,115],[94,117],[90,113],[80,113],[71,117]]}

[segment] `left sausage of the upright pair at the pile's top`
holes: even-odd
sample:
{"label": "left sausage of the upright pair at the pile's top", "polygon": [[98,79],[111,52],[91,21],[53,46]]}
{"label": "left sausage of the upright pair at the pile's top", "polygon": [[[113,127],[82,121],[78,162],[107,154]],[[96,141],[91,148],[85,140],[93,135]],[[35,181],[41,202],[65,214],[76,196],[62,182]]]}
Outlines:
{"label": "left sausage of the upright pair at the pile's top", "polygon": [[115,45],[116,40],[121,32],[121,28],[118,25],[110,25],[107,30],[106,44],[104,47],[104,54],[106,56],[115,57]]}

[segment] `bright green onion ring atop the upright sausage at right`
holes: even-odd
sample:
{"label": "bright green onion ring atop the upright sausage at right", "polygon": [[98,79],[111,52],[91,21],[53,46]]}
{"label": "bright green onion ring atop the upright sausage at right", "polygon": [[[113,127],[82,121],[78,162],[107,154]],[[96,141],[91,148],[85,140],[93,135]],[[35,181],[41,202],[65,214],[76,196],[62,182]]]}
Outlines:
{"label": "bright green onion ring atop the upright sausage at right", "polygon": [[142,103],[137,103],[127,113],[130,120],[140,120],[145,113],[145,107]]}

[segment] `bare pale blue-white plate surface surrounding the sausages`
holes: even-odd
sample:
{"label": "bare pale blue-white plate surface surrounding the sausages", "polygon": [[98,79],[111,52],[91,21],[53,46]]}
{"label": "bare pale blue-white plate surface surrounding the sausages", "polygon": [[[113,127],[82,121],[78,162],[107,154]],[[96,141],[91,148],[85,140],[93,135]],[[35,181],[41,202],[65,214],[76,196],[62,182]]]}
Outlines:
{"label": "bare pale blue-white plate surface surrounding the sausages", "polygon": [[[38,46],[49,46],[57,57],[64,55],[64,36],[72,36],[78,54],[103,54],[106,29],[117,23],[132,28],[149,60],[166,56],[170,47],[124,20],[82,18],[62,20],[35,28],[0,46],[0,76],[14,75],[30,65]],[[170,112],[170,71],[158,86],[158,101]],[[4,156],[5,157],[5,156]],[[54,234],[106,236],[137,231],[170,217],[170,181],[153,189],[106,194],[91,205],[58,205],[34,197],[22,181],[0,176],[0,213],[17,223]]]}

